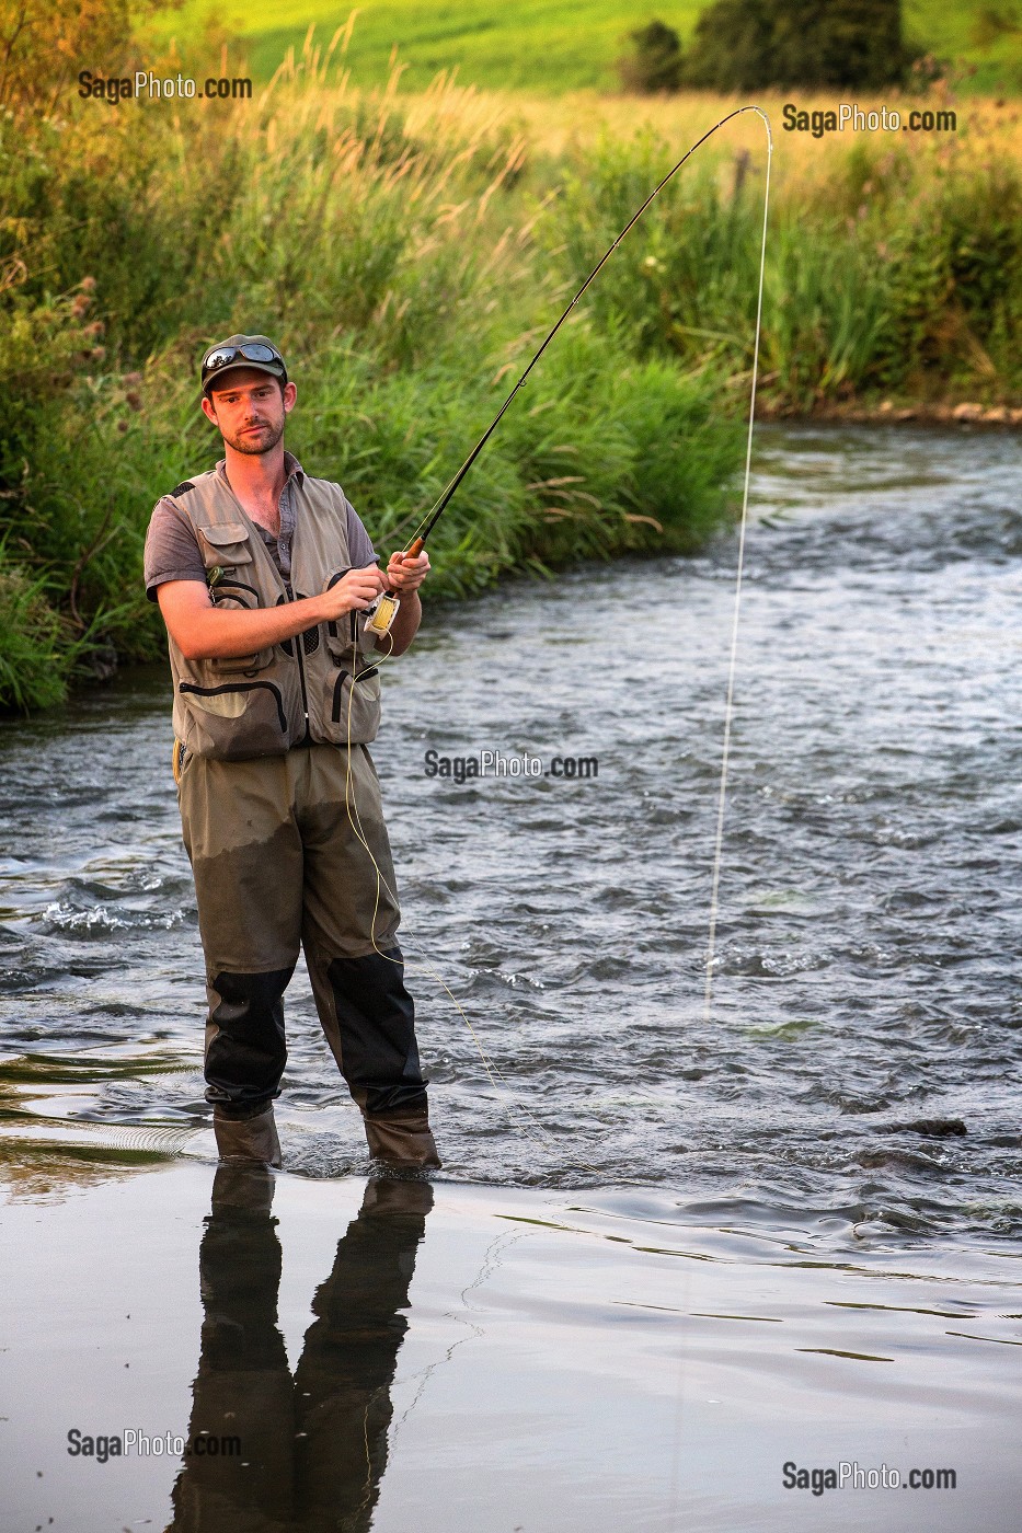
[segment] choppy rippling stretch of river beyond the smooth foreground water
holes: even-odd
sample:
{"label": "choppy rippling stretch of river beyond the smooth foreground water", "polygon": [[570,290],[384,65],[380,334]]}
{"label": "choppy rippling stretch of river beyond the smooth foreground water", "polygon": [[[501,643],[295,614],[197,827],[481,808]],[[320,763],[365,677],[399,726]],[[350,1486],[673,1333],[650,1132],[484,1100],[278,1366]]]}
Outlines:
{"label": "choppy rippling stretch of river beyond the smooth foreground water", "polygon": [[[761,431],[709,1016],[734,538],[509,586],[393,665],[450,1176],[1017,1229],[1020,483],[1007,435]],[[9,1137],[207,1151],[167,708],[152,668],[0,733]],[[459,785],[430,750],[598,768]],[[301,977],[288,1030],[287,1164],[356,1170]]]}

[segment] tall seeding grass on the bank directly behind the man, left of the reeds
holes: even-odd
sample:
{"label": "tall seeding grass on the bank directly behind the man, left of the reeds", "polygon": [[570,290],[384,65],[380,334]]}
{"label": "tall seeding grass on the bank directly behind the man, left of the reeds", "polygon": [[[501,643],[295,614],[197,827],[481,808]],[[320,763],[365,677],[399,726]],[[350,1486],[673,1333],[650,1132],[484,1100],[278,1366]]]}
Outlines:
{"label": "tall seeding grass on the bank directly behind the man, left of the reeds", "polygon": [[[279,340],[299,386],[290,446],[344,483],[387,553],[551,323],[563,277],[537,244],[546,187],[525,184],[514,124],[440,84],[413,126],[393,84],[365,100],[322,75],[310,54],[247,115],[45,123],[21,158],[0,121],[15,405],[0,417],[0,619],[18,635],[0,702],[52,702],[97,645],[160,652],[141,550],[157,497],[219,455],[196,397],[207,342]],[[740,458],[723,382],[580,316],[437,527],[434,593],[694,547]]]}

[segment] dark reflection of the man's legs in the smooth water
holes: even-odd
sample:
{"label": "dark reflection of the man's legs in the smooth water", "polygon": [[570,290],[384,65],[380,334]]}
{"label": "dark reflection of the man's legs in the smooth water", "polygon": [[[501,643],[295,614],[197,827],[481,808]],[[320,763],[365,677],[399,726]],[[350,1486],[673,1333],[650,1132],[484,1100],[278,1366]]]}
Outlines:
{"label": "dark reflection of the man's legs in the smooth water", "polygon": [[387,1467],[402,1311],[433,1206],[427,1182],[368,1182],[313,1298],[295,1378],[276,1325],[281,1246],[269,1171],[221,1165],[199,1248],[206,1318],[190,1453],[167,1533],[365,1533]]}

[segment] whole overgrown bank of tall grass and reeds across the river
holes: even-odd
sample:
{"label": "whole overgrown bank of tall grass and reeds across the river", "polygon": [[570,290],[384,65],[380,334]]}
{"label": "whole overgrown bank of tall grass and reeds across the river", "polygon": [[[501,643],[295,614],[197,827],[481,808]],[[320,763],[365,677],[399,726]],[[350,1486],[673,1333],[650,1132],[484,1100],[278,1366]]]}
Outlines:
{"label": "whole overgrown bank of tall grass and reeds across the river", "polygon": [[[288,440],[387,552],[649,189],[735,106],[411,92],[401,71],[362,90],[345,38],[325,44],[249,103],[0,115],[0,705],[161,652],[141,547],[155,498],[216,457],[207,342],[278,337],[299,383]],[[945,89],[953,135],[815,140],[761,100],[763,406],[1022,403],[1019,107]],[[747,115],[615,253],[440,523],[436,593],[695,549],[730,514],[763,169]]]}

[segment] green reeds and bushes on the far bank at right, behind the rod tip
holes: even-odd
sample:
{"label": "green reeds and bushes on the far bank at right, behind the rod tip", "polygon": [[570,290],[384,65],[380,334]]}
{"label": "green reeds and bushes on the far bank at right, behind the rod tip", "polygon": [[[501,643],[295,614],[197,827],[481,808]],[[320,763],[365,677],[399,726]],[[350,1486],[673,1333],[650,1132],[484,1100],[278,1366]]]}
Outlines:
{"label": "green reeds and bushes on the far bank at right, behind the rod tip", "polygon": [[[1017,399],[1022,172],[999,152],[1011,140],[935,147],[881,135],[853,140],[841,156],[823,150],[809,167],[784,166],[789,141],[776,120],[775,133],[767,400],[806,411],[870,392]],[[648,126],[631,140],[562,149],[574,169],[542,233],[569,282],[582,281],[683,144],[668,146]],[[763,218],[753,153],[746,138],[730,162],[718,156],[671,182],[594,287],[592,313],[621,322],[640,354],[747,369]]]}

